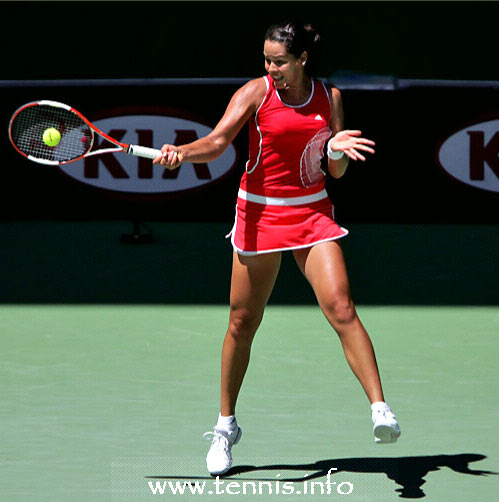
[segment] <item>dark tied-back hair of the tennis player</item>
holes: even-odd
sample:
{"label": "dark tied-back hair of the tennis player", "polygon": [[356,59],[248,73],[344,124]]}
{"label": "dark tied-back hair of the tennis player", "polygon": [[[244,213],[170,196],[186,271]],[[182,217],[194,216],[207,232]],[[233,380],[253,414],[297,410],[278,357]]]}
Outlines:
{"label": "dark tied-back hair of the tennis player", "polygon": [[307,51],[308,58],[305,72],[309,76],[316,74],[319,65],[321,37],[311,24],[298,24],[293,21],[275,24],[265,34],[265,40],[279,42],[286,50],[299,58]]}

